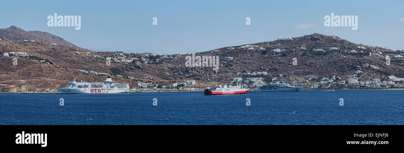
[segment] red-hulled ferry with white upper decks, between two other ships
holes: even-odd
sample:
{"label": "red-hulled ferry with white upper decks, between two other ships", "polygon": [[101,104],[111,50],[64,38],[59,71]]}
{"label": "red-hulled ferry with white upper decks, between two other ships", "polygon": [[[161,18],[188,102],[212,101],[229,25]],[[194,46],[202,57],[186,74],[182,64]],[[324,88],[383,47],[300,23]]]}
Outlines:
{"label": "red-hulled ferry with white upper decks, between two other ships", "polygon": [[205,95],[216,95],[216,94],[246,94],[248,92],[248,88],[243,88],[243,86],[227,86],[223,87],[219,85],[219,87],[212,87],[210,89],[205,89]]}

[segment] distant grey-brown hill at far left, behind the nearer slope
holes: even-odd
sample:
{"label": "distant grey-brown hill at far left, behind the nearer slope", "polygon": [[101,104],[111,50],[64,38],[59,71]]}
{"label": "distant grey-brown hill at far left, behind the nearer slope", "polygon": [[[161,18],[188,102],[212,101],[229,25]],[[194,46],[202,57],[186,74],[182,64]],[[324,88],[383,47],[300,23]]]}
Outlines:
{"label": "distant grey-brown hill at far left, behind the nearer slope", "polygon": [[42,31],[25,31],[14,25],[6,29],[0,29],[0,38],[3,40],[14,41],[35,40],[36,42],[42,42],[45,44],[55,43],[59,46],[83,49],[53,34]]}

